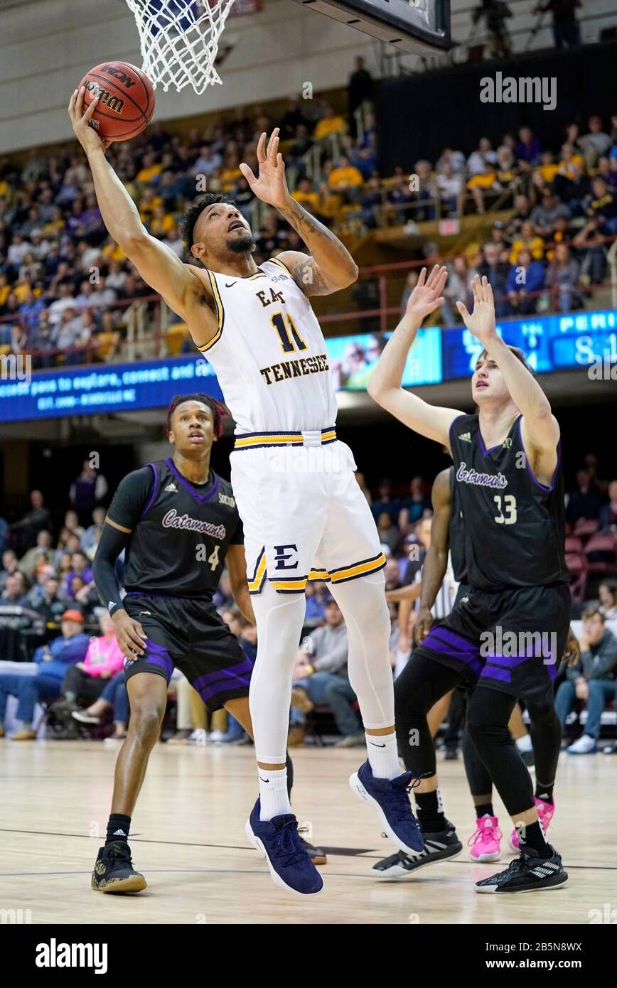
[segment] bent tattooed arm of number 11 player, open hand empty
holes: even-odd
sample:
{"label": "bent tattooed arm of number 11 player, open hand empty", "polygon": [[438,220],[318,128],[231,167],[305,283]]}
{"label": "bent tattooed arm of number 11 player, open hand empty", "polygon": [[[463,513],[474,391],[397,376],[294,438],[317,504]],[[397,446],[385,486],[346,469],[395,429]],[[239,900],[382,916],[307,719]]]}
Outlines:
{"label": "bent tattooed arm of number 11 player, open hand empty", "polygon": [[240,170],[252,192],[263,203],[281,213],[307,244],[310,255],[284,251],[281,261],[290,269],[296,284],[306,295],[328,295],[352,285],[358,267],[351,254],[327,226],[297,203],[289,194],[285,180],[285,163],[279,152],[279,128],[275,127],[266,148],[266,134],[257,143],[259,177],[242,162]]}

